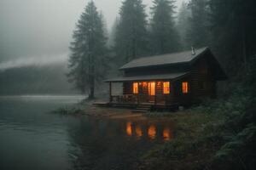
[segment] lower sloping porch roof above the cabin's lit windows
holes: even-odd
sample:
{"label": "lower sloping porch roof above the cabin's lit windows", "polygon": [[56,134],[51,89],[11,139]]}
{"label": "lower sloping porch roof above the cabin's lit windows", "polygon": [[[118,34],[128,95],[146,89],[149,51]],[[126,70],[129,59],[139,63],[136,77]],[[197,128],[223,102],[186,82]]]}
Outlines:
{"label": "lower sloping porch roof above the cabin's lit windows", "polygon": [[154,80],[173,80],[179,77],[187,75],[189,72],[177,72],[170,74],[160,74],[160,75],[143,75],[135,77],[116,77],[108,79],[105,82],[131,82],[131,81],[154,81]]}

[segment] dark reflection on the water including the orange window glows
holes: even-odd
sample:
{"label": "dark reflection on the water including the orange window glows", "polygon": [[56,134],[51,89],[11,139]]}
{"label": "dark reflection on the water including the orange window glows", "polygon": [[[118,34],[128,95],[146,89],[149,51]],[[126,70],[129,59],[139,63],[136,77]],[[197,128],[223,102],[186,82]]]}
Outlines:
{"label": "dark reflection on the water including the orange window glows", "polygon": [[[75,169],[134,169],[139,153],[172,139],[172,122],[157,119],[80,118],[68,132]],[[138,150],[139,148],[139,150]]]}

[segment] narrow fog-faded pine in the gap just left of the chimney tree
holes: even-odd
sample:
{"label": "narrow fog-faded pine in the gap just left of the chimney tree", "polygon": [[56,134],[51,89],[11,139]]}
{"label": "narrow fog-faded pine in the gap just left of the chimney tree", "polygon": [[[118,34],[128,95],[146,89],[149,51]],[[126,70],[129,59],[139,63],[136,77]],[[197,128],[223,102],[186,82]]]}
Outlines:
{"label": "narrow fog-faded pine in the gap just left of the chimney tree", "polygon": [[189,27],[190,10],[187,3],[182,3],[177,14],[177,31],[179,33],[181,46],[183,49],[191,48],[191,44],[187,42]]}

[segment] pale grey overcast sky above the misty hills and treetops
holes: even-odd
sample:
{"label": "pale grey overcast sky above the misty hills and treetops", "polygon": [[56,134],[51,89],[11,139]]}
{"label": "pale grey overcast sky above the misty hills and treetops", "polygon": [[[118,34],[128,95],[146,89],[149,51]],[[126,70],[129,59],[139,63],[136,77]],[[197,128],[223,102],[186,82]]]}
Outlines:
{"label": "pale grey overcast sky above the misty hills and treetops", "polygon": [[[79,15],[89,0],[0,0],[0,62],[18,58],[54,58],[68,46]],[[95,0],[108,28],[121,0]],[[179,6],[183,0],[177,0]],[[143,0],[148,8],[152,0]],[[42,57],[44,56],[44,57]],[[2,63],[3,64],[3,63]]]}

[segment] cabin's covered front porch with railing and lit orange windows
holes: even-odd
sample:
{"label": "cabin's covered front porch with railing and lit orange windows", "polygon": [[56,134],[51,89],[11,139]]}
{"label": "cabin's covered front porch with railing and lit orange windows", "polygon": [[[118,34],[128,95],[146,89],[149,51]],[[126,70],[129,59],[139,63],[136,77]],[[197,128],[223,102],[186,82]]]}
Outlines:
{"label": "cabin's covered front porch with railing and lit orange windows", "polygon": [[[119,83],[119,94],[115,94]],[[182,93],[180,93],[182,91]],[[151,80],[109,82],[109,106],[115,107],[150,107],[151,109],[177,108],[178,99],[187,98],[188,82],[177,80]],[[182,95],[181,95],[182,94]]]}

